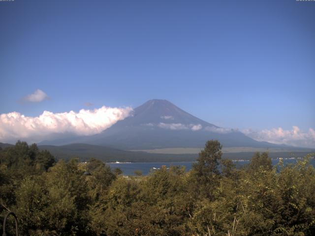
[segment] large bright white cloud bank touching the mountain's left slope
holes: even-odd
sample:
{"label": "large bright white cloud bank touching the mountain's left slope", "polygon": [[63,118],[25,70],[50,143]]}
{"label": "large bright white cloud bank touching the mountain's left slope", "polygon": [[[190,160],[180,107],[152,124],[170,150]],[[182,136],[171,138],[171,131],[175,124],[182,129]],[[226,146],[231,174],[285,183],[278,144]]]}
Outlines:
{"label": "large bright white cloud bank touching the mountain's left slope", "polygon": [[18,112],[1,114],[0,142],[12,142],[17,139],[39,142],[45,136],[56,133],[92,135],[126,118],[131,111],[130,107],[103,106],[94,110],[82,109],[78,113],[44,111],[38,117],[26,117]]}

